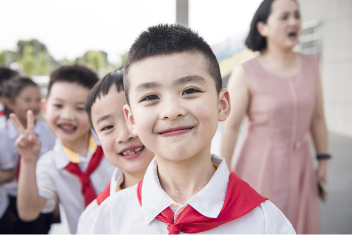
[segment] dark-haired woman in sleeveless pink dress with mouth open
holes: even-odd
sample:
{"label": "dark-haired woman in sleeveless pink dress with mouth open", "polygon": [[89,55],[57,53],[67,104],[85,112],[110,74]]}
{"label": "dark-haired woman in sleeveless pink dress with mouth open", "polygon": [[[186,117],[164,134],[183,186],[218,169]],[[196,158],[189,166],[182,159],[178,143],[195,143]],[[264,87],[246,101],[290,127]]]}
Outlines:
{"label": "dark-haired woman in sleeveless pink dress with mouth open", "polygon": [[224,123],[221,155],[231,165],[247,115],[234,172],[268,197],[297,234],[318,234],[318,184],[326,189],[330,156],[318,60],[293,52],[300,30],[295,0],[264,0],[258,8],[246,45],[260,54],[237,66],[230,77],[232,113]]}

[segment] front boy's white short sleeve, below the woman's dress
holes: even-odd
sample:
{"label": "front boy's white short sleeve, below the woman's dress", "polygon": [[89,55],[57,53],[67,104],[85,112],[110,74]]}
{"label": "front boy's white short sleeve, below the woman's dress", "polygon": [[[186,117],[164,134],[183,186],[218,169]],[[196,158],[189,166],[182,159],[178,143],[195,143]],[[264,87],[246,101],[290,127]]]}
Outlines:
{"label": "front boy's white short sleeve, below the woman's dress", "polygon": [[296,234],[291,223],[270,201],[260,204],[265,217],[265,234]]}

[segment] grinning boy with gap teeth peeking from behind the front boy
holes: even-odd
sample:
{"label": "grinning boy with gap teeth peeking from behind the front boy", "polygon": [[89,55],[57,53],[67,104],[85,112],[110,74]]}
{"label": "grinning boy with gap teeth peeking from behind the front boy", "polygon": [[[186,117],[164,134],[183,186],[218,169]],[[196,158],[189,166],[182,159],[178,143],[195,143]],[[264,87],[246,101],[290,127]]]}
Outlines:
{"label": "grinning boy with gap teeth peeking from behind the front boy", "polygon": [[117,168],[105,190],[79,217],[77,234],[106,198],[143,180],[146,168],[154,157],[126,125],[123,107],[127,100],[123,78],[123,69],[111,72],[93,87],[87,98],[85,110],[91,126],[106,158]]}

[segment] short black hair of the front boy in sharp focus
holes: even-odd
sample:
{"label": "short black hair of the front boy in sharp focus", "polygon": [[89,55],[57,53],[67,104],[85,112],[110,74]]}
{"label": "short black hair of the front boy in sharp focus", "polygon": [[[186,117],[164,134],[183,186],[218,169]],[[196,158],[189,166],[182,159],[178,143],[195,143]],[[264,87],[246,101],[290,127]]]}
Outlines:
{"label": "short black hair of the front boy in sharp focus", "polygon": [[141,32],[131,46],[125,60],[124,87],[127,102],[130,104],[129,78],[130,67],[145,58],[174,53],[200,53],[206,60],[205,68],[215,81],[216,91],[222,88],[219,63],[209,44],[192,29],[181,24],[158,24]]}

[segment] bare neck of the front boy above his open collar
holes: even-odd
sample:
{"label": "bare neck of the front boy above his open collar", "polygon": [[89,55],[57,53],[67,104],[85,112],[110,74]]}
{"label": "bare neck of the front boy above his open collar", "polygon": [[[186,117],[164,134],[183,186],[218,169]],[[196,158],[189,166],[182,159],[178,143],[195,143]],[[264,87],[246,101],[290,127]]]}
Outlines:
{"label": "bare neck of the front boy above his open collar", "polygon": [[161,188],[175,202],[185,205],[211,180],[216,169],[211,162],[210,147],[183,161],[156,156]]}

